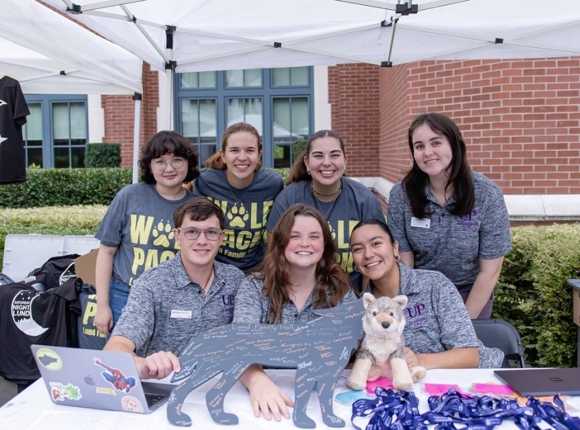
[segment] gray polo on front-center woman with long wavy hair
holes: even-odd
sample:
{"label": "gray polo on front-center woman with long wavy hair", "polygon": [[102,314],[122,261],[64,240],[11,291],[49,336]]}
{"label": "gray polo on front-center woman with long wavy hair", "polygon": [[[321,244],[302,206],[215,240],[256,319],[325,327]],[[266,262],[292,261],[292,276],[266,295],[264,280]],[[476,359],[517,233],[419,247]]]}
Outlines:
{"label": "gray polo on front-center woman with long wavy hair", "polygon": [[[263,288],[263,280],[256,280],[251,276],[243,280],[236,296],[234,323],[266,323],[270,301],[268,297],[262,295]],[[356,300],[356,295],[349,288],[339,304],[354,300]],[[300,312],[296,309],[294,302],[289,300],[282,307],[281,323],[308,323],[318,318],[318,315],[313,313],[313,309],[312,293]]]}

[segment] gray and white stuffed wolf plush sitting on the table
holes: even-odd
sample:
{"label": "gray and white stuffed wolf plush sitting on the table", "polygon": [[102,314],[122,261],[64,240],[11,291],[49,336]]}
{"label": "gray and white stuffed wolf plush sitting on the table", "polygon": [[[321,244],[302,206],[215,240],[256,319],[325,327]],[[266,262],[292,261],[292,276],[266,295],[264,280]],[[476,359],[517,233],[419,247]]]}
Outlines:
{"label": "gray and white stuffed wolf plush sitting on the table", "polygon": [[354,390],[364,390],[367,381],[392,377],[395,389],[409,390],[413,381],[425,377],[426,371],[423,366],[408,368],[405,359],[403,310],[407,306],[407,297],[397,295],[393,299],[375,299],[371,293],[365,293],[363,305],[365,338],[356,353],[347,385]]}

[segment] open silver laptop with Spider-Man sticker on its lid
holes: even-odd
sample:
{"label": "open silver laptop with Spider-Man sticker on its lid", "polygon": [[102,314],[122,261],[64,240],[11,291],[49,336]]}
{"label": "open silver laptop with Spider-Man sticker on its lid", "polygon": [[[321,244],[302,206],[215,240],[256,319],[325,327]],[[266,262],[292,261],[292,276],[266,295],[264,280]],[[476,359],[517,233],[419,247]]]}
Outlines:
{"label": "open silver laptop with Spider-Man sticker on its lid", "polygon": [[31,349],[57,405],[148,414],[169,399],[175,387],[140,381],[129,353],[48,345]]}

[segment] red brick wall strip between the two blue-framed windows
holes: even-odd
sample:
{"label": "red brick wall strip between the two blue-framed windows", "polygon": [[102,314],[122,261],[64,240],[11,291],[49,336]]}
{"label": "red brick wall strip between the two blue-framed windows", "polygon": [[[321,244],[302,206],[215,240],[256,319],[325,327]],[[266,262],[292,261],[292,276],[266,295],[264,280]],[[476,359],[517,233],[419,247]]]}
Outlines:
{"label": "red brick wall strip between the two blue-framed windows", "polygon": [[[159,106],[159,81],[157,72],[143,63],[143,98],[141,101],[140,146],[157,133],[157,107]],[[105,110],[105,136],[103,142],[120,142],[121,166],[133,165],[133,129],[135,102],[131,96],[101,96]]]}

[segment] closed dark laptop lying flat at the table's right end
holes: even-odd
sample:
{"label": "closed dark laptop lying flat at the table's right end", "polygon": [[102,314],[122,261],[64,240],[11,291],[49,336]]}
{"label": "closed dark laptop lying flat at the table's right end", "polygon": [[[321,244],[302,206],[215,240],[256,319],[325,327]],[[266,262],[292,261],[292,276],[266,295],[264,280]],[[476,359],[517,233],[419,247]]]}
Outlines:
{"label": "closed dark laptop lying flat at the table's right end", "polygon": [[493,373],[525,397],[580,394],[580,368],[523,368]]}

